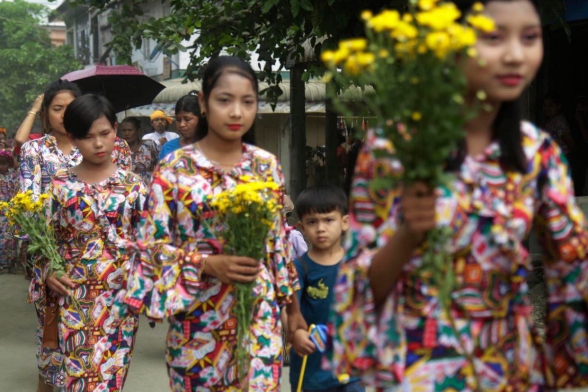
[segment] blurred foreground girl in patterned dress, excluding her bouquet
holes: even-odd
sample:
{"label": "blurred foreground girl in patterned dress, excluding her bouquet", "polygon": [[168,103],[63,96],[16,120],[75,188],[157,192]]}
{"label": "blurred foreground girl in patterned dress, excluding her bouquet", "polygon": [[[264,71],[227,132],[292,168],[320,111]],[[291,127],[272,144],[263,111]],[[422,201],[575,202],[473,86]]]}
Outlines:
{"label": "blurred foreground girl in patterned dress, excluding her bouquet", "polygon": [[[588,384],[587,222],[562,150],[521,122],[518,106],[542,61],[541,21],[530,0],[484,3],[497,28],[481,33],[480,58],[463,66],[469,102],[482,90],[493,109],[467,123],[462,159],[449,165],[455,180],[435,192],[423,183],[373,189],[372,179],[400,176],[402,167],[377,130],[360,153],[330,329],[337,374],[398,391]],[[523,240],[533,224],[545,247],[544,333],[525,282],[532,265]],[[450,317],[459,337],[419,270],[435,225],[453,230]]]}

